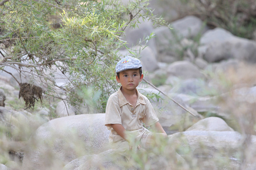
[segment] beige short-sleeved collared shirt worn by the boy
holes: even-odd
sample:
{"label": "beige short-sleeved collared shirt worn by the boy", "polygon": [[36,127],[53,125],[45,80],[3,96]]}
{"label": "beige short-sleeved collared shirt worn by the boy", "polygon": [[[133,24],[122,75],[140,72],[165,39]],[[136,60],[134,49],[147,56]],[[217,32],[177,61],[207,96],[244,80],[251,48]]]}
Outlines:
{"label": "beige short-sleeved collared shirt worn by the boy", "polygon": [[[146,96],[142,95],[136,89],[138,98],[135,107],[133,107],[124,97],[121,88],[122,87],[120,87],[117,92],[110,95],[106,106],[105,126],[108,127],[108,130],[111,130],[110,137],[112,136],[112,139],[110,142],[123,140],[110,124],[121,124],[127,131],[142,132],[143,123],[146,126],[150,126],[159,121]],[[113,138],[114,136],[117,138]]]}

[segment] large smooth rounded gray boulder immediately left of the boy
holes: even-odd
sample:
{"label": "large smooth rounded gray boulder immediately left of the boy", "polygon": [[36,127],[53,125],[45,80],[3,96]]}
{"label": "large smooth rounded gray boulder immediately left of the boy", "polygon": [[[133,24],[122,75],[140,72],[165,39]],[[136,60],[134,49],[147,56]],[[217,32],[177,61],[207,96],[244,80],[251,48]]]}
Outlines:
{"label": "large smooth rounded gray boulder immediately left of the boy", "polygon": [[28,140],[23,168],[61,169],[68,162],[109,148],[110,131],[104,126],[105,114],[84,114],[53,119],[39,127]]}

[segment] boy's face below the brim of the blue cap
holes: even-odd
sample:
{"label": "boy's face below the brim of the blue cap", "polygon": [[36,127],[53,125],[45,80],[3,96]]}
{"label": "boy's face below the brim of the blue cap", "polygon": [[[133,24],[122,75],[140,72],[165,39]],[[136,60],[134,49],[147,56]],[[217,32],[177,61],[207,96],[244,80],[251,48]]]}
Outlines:
{"label": "boy's face below the brim of the blue cap", "polygon": [[134,90],[143,79],[143,74],[140,76],[140,69],[128,69],[119,73],[119,78],[116,76],[118,83],[121,83],[123,89]]}

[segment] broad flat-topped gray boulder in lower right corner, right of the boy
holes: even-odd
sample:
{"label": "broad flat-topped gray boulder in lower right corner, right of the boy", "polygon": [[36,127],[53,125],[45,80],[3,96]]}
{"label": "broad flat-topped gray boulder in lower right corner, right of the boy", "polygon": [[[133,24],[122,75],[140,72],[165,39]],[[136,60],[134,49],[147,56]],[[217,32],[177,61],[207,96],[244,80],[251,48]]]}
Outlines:
{"label": "broad flat-topped gray boulder in lower right corner, right of the boy", "polygon": [[185,160],[197,162],[198,169],[256,168],[254,135],[235,131],[191,130],[169,135],[169,139]]}

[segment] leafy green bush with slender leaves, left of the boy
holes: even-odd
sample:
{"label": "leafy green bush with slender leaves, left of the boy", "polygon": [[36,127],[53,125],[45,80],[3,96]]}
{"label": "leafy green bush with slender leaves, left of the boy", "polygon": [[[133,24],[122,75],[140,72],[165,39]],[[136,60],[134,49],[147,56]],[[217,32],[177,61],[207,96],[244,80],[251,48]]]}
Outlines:
{"label": "leafy green bush with slender leaves, left of the boy", "polygon": [[[79,93],[92,88],[89,98],[99,102],[91,107],[104,112],[108,96],[118,88],[114,68],[122,57],[118,49],[126,47],[121,40],[124,30],[136,27],[140,18],[165,24],[147,6],[148,0],[126,5],[118,0],[3,1],[0,69],[10,73],[6,68],[11,67],[19,73],[20,78],[13,77],[20,86],[36,85],[44,98],[73,105],[87,105]],[[59,85],[59,79],[68,81]],[[28,107],[38,100],[36,95],[31,97]]]}

